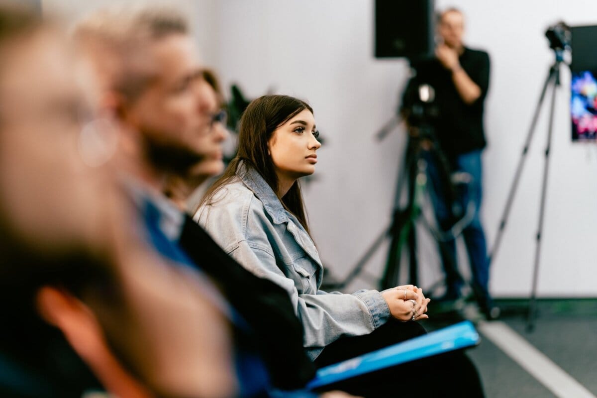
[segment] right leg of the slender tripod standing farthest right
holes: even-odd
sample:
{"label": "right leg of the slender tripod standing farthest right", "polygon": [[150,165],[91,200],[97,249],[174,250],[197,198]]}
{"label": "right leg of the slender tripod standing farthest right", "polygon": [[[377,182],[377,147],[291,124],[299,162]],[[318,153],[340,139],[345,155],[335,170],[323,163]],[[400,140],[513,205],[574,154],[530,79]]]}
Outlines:
{"label": "right leg of the slender tripod standing farthest right", "polygon": [[543,220],[545,214],[545,202],[547,197],[547,177],[549,175],[549,155],[552,145],[553,132],[553,113],[555,111],[556,89],[559,85],[559,69],[558,64],[553,68],[554,83],[552,91],[552,102],[549,110],[549,128],[547,130],[547,144],[545,148],[545,163],[543,166],[543,184],[541,186],[541,205],[539,208],[539,224],[537,227],[536,246],[535,246],[535,262],[533,269],[533,288],[531,289],[531,298],[529,301],[528,317],[527,317],[527,331],[533,331],[534,322],[537,312],[537,278],[539,272],[539,260],[541,255],[541,233],[543,232]]}

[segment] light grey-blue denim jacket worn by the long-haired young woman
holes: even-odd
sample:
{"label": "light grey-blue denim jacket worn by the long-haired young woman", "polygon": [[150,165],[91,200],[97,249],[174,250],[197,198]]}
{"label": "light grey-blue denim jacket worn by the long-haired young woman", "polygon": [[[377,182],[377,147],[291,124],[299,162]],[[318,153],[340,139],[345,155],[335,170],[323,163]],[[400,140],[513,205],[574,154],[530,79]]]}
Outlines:
{"label": "light grey-blue denim jacket worn by the long-haired young woman", "polygon": [[242,266],[288,291],[312,359],[338,338],[369,334],[389,319],[378,291],[319,290],[324,269],[313,240],[250,166],[241,163],[213,202],[199,208],[195,220]]}

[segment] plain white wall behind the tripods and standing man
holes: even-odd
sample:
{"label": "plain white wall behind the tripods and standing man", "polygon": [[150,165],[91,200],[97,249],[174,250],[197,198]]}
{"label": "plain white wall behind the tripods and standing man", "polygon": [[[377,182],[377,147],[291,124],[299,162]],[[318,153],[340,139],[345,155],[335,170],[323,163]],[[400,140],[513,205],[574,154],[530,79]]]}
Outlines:
{"label": "plain white wall behind the tripods and standing man", "polygon": [[[44,0],[81,14],[112,1]],[[183,3],[184,1],[179,1]],[[468,17],[467,42],[489,51],[491,88],[486,126],[485,201],[488,242],[496,236],[507,191],[527,135],[531,112],[553,60],[543,33],[563,19],[597,23],[594,0],[488,2],[437,0]],[[239,82],[251,97],[267,90],[307,99],[326,145],[317,179],[307,187],[313,234],[324,263],[344,276],[386,228],[393,205],[404,130],[382,143],[377,129],[395,112],[407,79],[404,60],[373,58],[373,1],[201,0],[184,2],[198,30],[206,63],[225,84]],[[597,52],[597,48],[596,48]],[[570,76],[562,73],[544,223],[538,291],[545,297],[597,296],[597,149],[572,144],[568,126]],[[543,116],[547,114],[547,107]],[[497,297],[528,295],[546,140],[538,125],[506,235],[493,264]],[[379,274],[385,247],[368,267]],[[421,286],[441,277],[435,248],[421,242]],[[461,267],[467,273],[466,264]],[[368,286],[365,280],[353,284]]]}

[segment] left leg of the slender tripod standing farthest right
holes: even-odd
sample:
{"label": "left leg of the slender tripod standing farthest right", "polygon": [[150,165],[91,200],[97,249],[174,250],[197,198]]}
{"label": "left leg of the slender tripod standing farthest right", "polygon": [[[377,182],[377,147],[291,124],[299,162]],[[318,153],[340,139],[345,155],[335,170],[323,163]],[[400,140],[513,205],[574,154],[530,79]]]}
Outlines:
{"label": "left leg of the slender tripod standing farthest right", "polygon": [[531,145],[531,141],[533,140],[533,134],[534,134],[535,128],[537,126],[537,119],[539,117],[539,113],[541,112],[541,104],[543,104],[543,100],[545,98],[545,93],[547,91],[547,87],[549,86],[549,83],[552,80],[555,81],[555,79],[557,78],[557,73],[558,73],[558,66],[556,63],[549,69],[549,75],[547,76],[547,79],[543,85],[543,90],[541,90],[541,96],[539,97],[539,102],[537,103],[537,107],[536,107],[535,113],[533,115],[533,121],[531,122],[531,127],[528,130],[527,140],[525,141],[524,148],[522,149],[521,158],[518,161],[518,166],[516,166],[516,172],[514,174],[512,184],[510,185],[510,190],[508,192],[508,196],[506,199],[506,205],[504,206],[504,211],[502,212],[502,215],[500,218],[500,226],[498,227],[497,235],[494,240],[493,246],[491,246],[491,252],[490,252],[489,260],[488,260],[490,265],[491,265],[491,262],[496,257],[497,249],[500,247],[501,237],[503,236],[504,229],[506,227],[506,222],[507,222],[508,216],[510,214],[510,208],[512,208],[512,202],[514,200],[514,196],[516,195],[516,189],[518,189],[518,183],[520,181],[520,177],[522,174],[522,168],[524,167],[525,161],[527,159],[528,148]]}

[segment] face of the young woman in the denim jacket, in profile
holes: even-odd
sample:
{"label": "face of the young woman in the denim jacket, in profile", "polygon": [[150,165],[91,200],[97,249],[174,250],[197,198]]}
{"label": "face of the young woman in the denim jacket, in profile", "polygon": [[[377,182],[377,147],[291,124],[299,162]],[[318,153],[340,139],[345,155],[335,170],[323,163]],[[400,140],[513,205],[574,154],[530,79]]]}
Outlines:
{"label": "face of the young woman in the denim jacket, in profile", "polygon": [[321,147],[313,113],[304,109],[275,129],[267,149],[279,177],[300,178],[315,172]]}

